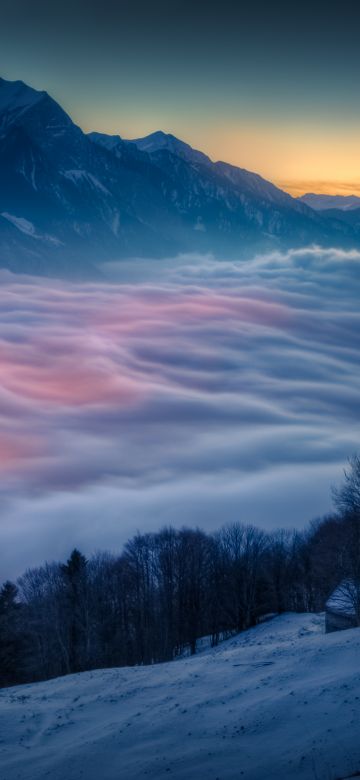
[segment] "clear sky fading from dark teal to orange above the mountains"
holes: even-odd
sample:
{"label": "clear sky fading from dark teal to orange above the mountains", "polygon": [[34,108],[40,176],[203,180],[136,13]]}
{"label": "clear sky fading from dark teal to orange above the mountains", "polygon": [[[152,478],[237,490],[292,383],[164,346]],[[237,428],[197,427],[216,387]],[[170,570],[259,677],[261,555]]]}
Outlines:
{"label": "clear sky fading from dark teal to orange above the mountains", "polygon": [[360,192],[355,2],[0,0],[0,73],[85,130],[157,129],[294,194]]}

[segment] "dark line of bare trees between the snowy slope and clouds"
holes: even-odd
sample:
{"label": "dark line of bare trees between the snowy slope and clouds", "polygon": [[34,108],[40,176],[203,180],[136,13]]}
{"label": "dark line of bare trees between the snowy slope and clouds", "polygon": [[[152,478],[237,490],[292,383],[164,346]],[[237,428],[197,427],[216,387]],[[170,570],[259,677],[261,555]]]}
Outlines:
{"label": "dark line of bare trees between the snowy slope and clouds", "polygon": [[214,534],[166,527],[137,533],[120,555],[28,569],[0,590],[0,685],[195,653],[284,611],[324,609],[356,584],[360,625],[360,459],[335,493],[336,512],[306,531],[233,523]]}

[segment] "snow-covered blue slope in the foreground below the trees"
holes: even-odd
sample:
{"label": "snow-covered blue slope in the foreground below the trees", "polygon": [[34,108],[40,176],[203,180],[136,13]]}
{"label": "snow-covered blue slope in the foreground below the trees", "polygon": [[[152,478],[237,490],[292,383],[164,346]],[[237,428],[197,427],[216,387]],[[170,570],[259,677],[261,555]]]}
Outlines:
{"label": "snow-covered blue slope in the foreground below the trees", "polygon": [[2,780],[360,772],[360,629],[283,615],[193,658],[0,692]]}

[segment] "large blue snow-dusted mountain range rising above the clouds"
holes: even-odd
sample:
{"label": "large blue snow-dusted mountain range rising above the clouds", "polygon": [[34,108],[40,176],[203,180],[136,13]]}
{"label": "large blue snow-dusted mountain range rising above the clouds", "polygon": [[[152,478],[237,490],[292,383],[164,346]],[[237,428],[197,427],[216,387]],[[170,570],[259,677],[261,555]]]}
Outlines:
{"label": "large blue snow-dusted mountain range rising above the clouds", "polygon": [[1,267],[86,276],[124,257],[311,243],[359,245],[360,228],[171,134],[86,134],[47,92],[0,79]]}

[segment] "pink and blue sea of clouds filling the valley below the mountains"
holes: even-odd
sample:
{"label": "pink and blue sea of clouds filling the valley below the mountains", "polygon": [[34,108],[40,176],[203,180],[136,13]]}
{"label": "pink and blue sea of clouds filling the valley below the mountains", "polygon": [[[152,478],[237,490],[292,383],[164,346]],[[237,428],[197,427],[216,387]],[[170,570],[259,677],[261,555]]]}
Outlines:
{"label": "pink and blue sea of clouds filling the valley below the mountains", "polygon": [[1,273],[0,580],[137,529],[328,512],[360,449],[360,253],[106,270]]}

